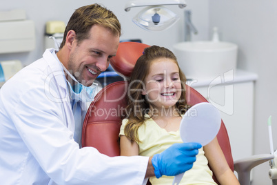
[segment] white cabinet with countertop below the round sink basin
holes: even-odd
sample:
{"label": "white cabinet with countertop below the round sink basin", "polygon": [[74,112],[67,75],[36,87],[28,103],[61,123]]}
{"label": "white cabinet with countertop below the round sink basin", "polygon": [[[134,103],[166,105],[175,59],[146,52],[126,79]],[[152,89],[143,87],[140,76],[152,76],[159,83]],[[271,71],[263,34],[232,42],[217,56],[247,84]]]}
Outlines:
{"label": "white cabinet with countertop below the round sink basin", "polygon": [[192,86],[220,110],[234,160],[253,155],[254,84],[257,75],[236,70],[216,78],[190,78]]}

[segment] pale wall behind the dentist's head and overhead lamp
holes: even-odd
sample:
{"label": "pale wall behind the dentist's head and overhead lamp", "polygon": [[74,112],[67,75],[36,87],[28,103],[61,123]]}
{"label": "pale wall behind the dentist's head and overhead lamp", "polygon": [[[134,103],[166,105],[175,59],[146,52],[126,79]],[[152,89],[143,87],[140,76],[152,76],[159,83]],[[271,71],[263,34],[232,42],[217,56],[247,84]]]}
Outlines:
{"label": "pale wall behind the dentist's head and overhead lamp", "polygon": [[[31,52],[13,53],[13,54],[1,54],[0,61],[8,59],[20,59],[24,65],[32,63],[32,61],[39,59],[44,52],[44,32],[45,22],[51,20],[60,20],[68,22],[72,12],[80,6],[85,6],[91,3],[102,3],[105,7],[112,10],[114,14],[119,18],[122,25],[123,35],[121,39],[142,39],[144,43],[150,45],[165,46],[167,48],[178,41],[183,41],[183,17],[184,10],[178,6],[167,6],[171,10],[175,11],[181,20],[178,21],[169,30],[161,32],[148,32],[139,28],[132,23],[132,17],[139,12],[142,8],[133,8],[130,12],[125,12],[125,3],[128,0],[113,1],[113,0],[101,0],[101,1],[88,1],[88,0],[48,0],[48,1],[36,1],[36,0],[0,0],[0,11],[12,10],[12,9],[24,9],[27,14],[27,19],[31,19],[35,23],[36,27],[36,49]],[[187,8],[195,10],[194,20],[195,26],[199,30],[199,34],[194,38],[205,39],[207,37],[208,26],[208,12],[207,12],[207,0],[189,0],[187,1]],[[194,39],[193,38],[193,39]]]}

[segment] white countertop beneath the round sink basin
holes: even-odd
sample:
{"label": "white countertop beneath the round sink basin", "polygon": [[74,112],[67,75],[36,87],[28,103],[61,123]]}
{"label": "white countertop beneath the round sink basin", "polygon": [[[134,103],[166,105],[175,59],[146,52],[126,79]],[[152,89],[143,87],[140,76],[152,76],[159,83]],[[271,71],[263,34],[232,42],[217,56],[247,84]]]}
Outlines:
{"label": "white countertop beneath the round sink basin", "polygon": [[218,77],[187,77],[187,85],[193,88],[201,86],[209,86],[214,84],[234,84],[245,81],[256,81],[258,75],[254,72],[236,69],[234,71],[226,72],[223,76]]}

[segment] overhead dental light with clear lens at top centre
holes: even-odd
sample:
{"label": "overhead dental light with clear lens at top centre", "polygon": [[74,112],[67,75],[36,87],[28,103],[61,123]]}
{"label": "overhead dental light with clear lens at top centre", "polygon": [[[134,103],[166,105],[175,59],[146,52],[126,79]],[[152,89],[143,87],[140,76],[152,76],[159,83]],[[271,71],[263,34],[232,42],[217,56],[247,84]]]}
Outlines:
{"label": "overhead dental light with clear lens at top centre", "polygon": [[163,7],[168,5],[178,5],[179,8],[187,6],[184,0],[134,0],[126,3],[125,11],[146,6],[132,21],[145,30],[161,31],[170,28],[180,19],[177,14]]}

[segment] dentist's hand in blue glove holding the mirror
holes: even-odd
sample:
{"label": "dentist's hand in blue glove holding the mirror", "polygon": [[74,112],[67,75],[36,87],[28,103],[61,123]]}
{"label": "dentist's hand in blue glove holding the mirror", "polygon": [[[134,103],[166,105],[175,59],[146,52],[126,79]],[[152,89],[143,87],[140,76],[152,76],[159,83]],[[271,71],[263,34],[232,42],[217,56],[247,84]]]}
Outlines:
{"label": "dentist's hand in blue glove holding the mirror", "polygon": [[174,176],[188,171],[196,161],[198,149],[201,147],[198,143],[172,144],[162,153],[154,155],[152,165],[156,177]]}

